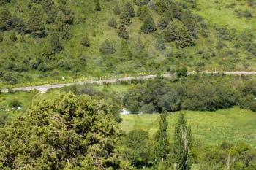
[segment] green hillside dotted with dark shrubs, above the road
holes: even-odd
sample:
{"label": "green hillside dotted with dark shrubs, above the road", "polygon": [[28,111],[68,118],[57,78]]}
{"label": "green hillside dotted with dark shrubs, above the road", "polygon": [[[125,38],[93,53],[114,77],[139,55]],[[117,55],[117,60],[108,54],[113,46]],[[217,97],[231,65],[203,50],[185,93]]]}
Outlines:
{"label": "green hillside dotted with dark shrubs, above the road", "polygon": [[1,0],[1,86],[178,66],[252,70],[254,27],[252,0]]}

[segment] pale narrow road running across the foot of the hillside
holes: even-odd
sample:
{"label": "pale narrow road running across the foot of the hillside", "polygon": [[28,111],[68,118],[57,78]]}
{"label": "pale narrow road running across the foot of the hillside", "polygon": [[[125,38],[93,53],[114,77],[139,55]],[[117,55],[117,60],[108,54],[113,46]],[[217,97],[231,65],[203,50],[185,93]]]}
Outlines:
{"label": "pale narrow road running across the foot of the hillside", "polygon": [[[189,74],[195,74],[197,72],[189,72]],[[201,74],[218,74],[221,72],[199,72]],[[223,74],[232,74],[232,75],[256,75],[256,72],[222,72]],[[171,77],[173,74],[162,74],[163,77]],[[121,77],[116,79],[108,79],[108,80],[88,80],[83,82],[70,82],[70,83],[63,83],[63,84],[56,84],[56,85],[39,85],[39,86],[30,86],[30,87],[23,87],[23,88],[13,88],[13,90],[39,90],[41,93],[46,93],[47,90],[52,88],[63,88],[64,86],[69,85],[83,85],[83,84],[103,84],[104,82],[113,83],[118,81],[129,81],[129,80],[147,80],[147,79],[154,79],[157,75],[144,75],[144,76],[137,76],[137,77]],[[2,90],[2,92],[6,92],[6,90]]]}

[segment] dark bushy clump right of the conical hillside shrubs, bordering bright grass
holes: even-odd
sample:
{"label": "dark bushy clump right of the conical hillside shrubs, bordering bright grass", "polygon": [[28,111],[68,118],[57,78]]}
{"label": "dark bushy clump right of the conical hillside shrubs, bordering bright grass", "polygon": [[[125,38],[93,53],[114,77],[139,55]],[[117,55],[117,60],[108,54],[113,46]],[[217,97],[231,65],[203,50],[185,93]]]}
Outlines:
{"label": "dark bushy clump right of the conical hillside shrubs, bordering bright grass", "polygon": [[194,45],[192,34],[181,23],[171,22],[165,31],[165,40],[175,42],[177,47],[189,47]]}

